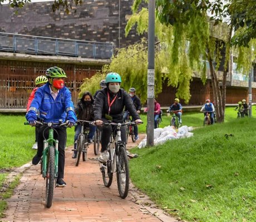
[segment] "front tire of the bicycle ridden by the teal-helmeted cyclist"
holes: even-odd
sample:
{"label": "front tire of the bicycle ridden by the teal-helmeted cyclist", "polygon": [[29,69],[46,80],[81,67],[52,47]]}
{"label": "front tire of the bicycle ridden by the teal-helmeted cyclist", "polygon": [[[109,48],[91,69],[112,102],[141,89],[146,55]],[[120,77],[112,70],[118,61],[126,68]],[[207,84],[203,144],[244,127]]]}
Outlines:
{"label": "front tire of the bicycle ridden by the teal-helmeted cyclist", "polygon": [[119,145],[118,155],[116,156],[116,177],[119,195],[125,199],[129,191],[129,165],[125,145]]}

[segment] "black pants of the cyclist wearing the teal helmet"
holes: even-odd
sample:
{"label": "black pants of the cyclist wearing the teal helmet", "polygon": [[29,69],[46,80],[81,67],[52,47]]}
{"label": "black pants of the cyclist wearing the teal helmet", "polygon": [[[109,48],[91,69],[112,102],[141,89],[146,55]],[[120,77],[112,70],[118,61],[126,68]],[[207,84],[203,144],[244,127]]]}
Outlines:
{"label": "black pants of the cyclist wearing the teal helmet", "polygon": [[[101,152],[104,152],[107,149],[107,144],[109,144],[109,142],[110,142],[110,135],[111,135],[111,131],[112,131],[111,127],[112,127],[112,130],[116,130],[116,126],[108,125],[108,126],[101,127],[101,130],[102,130],[102,134],[101,134]],[[124,143],[126,143],[125,129],[126,129],[125,125],[121,127],[121,140]]]}

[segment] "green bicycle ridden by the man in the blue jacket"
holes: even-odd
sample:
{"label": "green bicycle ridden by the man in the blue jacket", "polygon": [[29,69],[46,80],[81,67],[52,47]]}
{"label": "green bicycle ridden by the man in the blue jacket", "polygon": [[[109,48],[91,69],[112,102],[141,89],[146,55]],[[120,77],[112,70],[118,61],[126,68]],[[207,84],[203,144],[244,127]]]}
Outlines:
{"label": "green bicycle ridden by the man in the blue jacket", "polygon": [[[28,122],[24,123],[29,125]],[[45,138],[45,130],[43,132],[43,155],[41,159],[42,177],[46,179],[46,207],[52,206],[53,189],[56,187],[56,179],[58,178],[58,140],[53,138],[55,127],[67,127],[67,123],[61,121],[55,123],[43,123],[36,121],[35,127],[46,126],[49,128],[48,139]]]}

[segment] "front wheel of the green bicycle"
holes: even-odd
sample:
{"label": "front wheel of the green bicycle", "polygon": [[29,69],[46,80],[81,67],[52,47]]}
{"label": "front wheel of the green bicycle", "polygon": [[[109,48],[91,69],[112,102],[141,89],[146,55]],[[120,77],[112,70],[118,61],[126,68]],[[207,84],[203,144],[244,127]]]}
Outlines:
{"label": "front wheel of the green bicycle", "polygon": [[55,148],[50,147],[48,151],[48,162],[46,172],[46,207],[52,206],[53,188],[55,182]]}

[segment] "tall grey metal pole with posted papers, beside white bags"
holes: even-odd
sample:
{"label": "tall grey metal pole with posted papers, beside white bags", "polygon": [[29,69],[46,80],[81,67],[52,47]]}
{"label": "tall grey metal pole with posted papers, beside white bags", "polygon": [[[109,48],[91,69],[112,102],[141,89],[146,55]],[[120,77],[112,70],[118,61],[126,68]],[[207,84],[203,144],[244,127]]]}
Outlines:
{"label": "tall grey metal pole with posted papers, beside white bags", "polygon": [[147,54],[147,147],[154,145],[155,97],[155,0],[149,0],[149,32]]}

